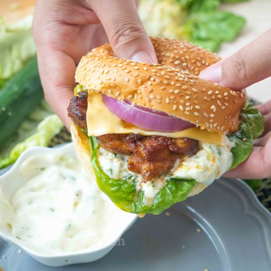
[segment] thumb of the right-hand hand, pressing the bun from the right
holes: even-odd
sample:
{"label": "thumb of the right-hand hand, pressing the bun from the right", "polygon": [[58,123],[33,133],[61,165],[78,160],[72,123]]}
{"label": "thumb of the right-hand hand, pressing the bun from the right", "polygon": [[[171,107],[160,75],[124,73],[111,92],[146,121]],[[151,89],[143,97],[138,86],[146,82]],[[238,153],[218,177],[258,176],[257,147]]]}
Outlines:
{"label": "thumb of the right-hand hand, pressing the bun from the right", "polygon": [[200,77],[233,90],[244,89],[271,76],[271,29],[200,73]]}

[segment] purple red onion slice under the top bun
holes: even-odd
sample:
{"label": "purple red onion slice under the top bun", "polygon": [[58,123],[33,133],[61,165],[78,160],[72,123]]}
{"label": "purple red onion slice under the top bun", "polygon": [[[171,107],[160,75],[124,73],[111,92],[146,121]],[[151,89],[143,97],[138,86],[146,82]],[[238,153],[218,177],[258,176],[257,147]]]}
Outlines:
{"label": "purple red onion slice under the top bun", "polygon": [[120,119],[148,130],[176,132],[195,127],[193,123],[169,116],[165,112],[138,105],[132,106],[130,101],[121,102],[105,94],[102,94],[102,101]]}

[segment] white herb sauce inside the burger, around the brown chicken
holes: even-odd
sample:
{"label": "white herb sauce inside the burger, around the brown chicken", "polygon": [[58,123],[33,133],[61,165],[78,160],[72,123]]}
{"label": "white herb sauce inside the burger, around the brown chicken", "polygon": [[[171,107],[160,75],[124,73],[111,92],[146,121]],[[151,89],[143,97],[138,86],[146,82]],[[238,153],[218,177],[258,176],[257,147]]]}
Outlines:
{"label": "white herb sauce inside the burger, around the brown chicken", "polygon": [[223,146],[205,142],[200,142],[200,146],[201,149],[195,155],[186,157],[182,161],[178,159],[173,169],[146,183],[142,182],[141,175],[128,170],[129,156],[112,154],[100,147],[98,159],[103,171],[112,178],[124,179],[132,175],[136,181],[136,190],[143,190],[145,200],[148,202],[148,199],[154,199],[166,185],[166,179],[170,177],[194,179],[199,183],[210,185],[231,167],[233,163],[231,148],[234,143],[230,142],[227,136],[224,136]]}

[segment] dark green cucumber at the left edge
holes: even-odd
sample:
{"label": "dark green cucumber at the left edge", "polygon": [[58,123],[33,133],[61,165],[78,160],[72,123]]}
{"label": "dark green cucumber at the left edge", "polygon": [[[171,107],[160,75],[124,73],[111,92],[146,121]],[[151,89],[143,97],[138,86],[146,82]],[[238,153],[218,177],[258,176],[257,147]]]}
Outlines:
{"label": "dark green cucumber at the left edge", "polygon": [[0,149],[42,98],[37,59],[34,57],[0,89]]}

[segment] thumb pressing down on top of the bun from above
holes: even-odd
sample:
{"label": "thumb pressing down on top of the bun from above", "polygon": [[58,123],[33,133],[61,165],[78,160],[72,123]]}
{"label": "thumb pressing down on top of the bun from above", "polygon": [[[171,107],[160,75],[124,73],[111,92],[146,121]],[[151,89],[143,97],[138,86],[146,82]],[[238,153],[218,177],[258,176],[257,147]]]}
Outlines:
{"label": "thumb pressing down on top of the bun from above", "polygon": [[157,63],[153,45],[139,18],[134,0],[92,1],[114,54],[148,64]]}

